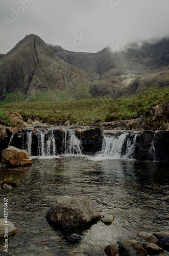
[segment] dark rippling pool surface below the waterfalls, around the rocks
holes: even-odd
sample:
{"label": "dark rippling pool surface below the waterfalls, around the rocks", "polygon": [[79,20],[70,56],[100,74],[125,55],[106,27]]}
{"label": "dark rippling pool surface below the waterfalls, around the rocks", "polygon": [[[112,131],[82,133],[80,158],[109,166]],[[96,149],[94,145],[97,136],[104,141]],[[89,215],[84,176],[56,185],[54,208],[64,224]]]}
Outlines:
{"label": "dark rippling pool surface below the waterfalls, around the rocks", "polygon": [[[105,255],[108,244],[130,239],[138,231],[169,229],[168,164],[91,157],[35,158],[31,167],[1,167],[1,181],[19,179],[10,191],[1,190],[1,218],[4,197],[8,198],[9,220],[20,228],[9,243],[10,255],[68,255],[84,251]],[[101,215],[113,214],[111,225],[95,223],[84,230],[79,244],[69,244],[65,233],[44,218],[59,196],[87,196]],[[3,247],[0,247],[0,254]]]}

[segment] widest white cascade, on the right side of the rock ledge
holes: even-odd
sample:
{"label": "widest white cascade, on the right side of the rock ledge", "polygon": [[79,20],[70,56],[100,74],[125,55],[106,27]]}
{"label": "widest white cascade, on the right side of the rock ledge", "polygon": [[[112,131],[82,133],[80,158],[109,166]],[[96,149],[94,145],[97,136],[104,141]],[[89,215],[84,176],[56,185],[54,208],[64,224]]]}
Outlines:
{"label": "widest white cascade, on the right side of the rock ledge", "polygon": [[134,155],[136,134],[115,132],[104,135],[102,151],[98,156],[114,159],[132,159]]}

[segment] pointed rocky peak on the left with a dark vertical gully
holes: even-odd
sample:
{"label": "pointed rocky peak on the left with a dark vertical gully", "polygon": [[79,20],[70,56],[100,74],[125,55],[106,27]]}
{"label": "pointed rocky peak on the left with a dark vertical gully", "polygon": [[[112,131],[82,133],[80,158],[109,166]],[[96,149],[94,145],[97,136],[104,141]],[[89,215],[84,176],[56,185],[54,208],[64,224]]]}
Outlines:
{"label": "pointed rocky peak on the left with a dark vertical gully", "polygon": [[[20,92],[27,99],[44,93],[59,99],[78,93],[90,77],[63,61],[36,35],[26,36],[0,60],[0,96]],[[85,91],[86,89],[84,89]]]}

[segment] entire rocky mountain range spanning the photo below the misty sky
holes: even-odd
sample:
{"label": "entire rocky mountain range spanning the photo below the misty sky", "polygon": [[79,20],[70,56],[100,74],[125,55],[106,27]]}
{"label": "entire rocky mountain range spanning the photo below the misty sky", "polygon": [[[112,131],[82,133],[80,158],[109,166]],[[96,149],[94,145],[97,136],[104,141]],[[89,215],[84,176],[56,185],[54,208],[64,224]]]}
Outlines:
{"label": "entire rocky mountain range spanning the photo below the misty sky", "polygon": [[169,39],[70,52],[31,34],[0,55],[0,100],[115,98],[169,86]]}

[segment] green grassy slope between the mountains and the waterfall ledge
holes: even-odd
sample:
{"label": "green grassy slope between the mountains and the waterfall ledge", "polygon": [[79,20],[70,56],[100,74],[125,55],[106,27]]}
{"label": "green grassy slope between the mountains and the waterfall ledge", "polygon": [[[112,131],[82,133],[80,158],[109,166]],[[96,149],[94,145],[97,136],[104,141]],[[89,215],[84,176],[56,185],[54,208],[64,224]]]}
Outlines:
{"label": "green grassy slope between the mountains and the waterfall ledge", "polygon": [[96,123],[140,117],[152,106],[169,100],[169,88],[147,91],[134,97],[118,99],[81,99],[72,101],[34,101],[3,103],[1,112],[14,111],[23,117],[38,116],[41,120],[59,124],[71,122]]}

